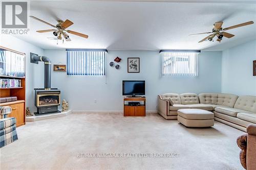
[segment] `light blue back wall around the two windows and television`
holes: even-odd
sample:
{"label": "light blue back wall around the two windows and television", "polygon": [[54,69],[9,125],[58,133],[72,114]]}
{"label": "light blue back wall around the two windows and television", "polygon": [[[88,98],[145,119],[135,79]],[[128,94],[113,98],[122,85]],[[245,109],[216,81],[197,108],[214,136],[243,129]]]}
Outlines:
{"label": "light blue back wall around the two windows and television", "polygon": [[[66,64],[65,50],[45,50],[53,64]],[[109,63],[120,57],[120,69]],[[140,73],[127,73],[127,58],[140,58]],[[105,77],[67,76],[52,72],[52,88],[62,91],[62,99],[73,110],[122,110],[122,80],[145,80],[147,110],[156,110],[157,95],[167,92],[221,92],[221,52],[202,52],[198,77],[162,77],[158,51],[109,51]],[[105,83],[106,82],[106,83]],[[97,103],[95,103],[95,99]]]}

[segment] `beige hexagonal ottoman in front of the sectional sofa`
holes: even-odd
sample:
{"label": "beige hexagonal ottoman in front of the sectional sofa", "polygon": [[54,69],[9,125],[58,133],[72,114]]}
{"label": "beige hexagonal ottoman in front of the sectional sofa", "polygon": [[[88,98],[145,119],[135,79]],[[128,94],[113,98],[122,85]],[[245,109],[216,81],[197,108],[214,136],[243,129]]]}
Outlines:
{"label": "beige hexagonal ottoman in front of the sectional sofa", "polygon": [[179,109],[178,122],[186,127],[214,126],[214,113],[202,109]]}

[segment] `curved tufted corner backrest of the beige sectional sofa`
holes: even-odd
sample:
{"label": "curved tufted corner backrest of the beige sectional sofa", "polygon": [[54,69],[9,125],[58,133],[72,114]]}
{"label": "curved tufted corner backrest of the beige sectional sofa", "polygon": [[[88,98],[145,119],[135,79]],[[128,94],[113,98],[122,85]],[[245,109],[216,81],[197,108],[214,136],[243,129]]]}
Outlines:
{"label": "curved tufted corner backrest of the beige sectional sofa", "polygon": [[225,93],[201,93],[198,97],[202,104],[214,104],[228,107],[234,107],[238,99],[238,95]]}

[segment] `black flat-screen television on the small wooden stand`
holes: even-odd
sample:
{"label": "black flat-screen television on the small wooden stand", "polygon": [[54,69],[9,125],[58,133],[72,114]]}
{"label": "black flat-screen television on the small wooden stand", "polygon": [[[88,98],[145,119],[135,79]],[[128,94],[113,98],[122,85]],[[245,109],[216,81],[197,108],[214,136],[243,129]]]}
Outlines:
{"label": "black flat-screen television on the small wooden stand", "polygon": [[123,80],[123,95],[145,95],[145,81]]}

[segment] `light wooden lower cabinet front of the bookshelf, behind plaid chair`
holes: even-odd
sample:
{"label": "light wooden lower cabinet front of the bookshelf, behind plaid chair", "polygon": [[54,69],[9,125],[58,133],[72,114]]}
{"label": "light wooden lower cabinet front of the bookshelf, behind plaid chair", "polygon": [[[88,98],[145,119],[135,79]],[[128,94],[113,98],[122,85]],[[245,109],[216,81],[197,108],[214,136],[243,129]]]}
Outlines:
{"label": "light wooden lower cabinet front of the bookshelf, behind plaid chair", "polygon": [[25,124],[25,115],[24,115],[24,103],[18,103],[10,105],[12,108],[12,112],[10,117],[16,118],[16,126],[21,126]]}

